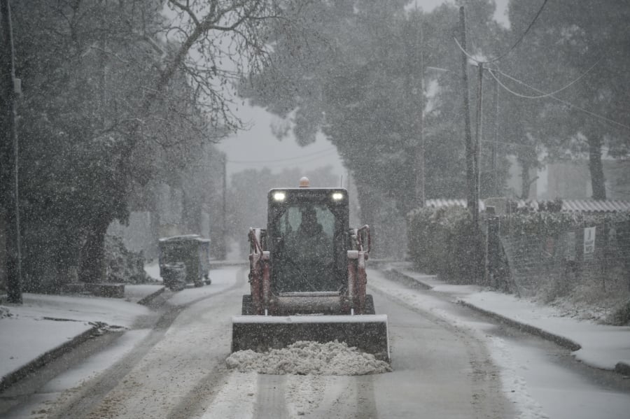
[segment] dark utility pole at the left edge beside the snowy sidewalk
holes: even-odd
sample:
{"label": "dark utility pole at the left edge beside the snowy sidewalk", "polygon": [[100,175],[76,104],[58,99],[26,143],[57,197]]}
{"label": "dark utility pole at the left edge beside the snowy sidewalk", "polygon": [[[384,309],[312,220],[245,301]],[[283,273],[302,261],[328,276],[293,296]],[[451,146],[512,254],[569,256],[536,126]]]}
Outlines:
{"label": "dark utility pole at the left edge beside the snowy sidewalk", "polygon": [[18,199],[18,111],[15,96],[19,84],[15,79],[13,56],[13,31],[8,0],[0,0],[3,51],[0,55],[0,109],[5,124],[1,127],[3,141],[0,143],[0,199],[3,201],[6,237],[6,285],[10,303],[22,304],[22,254],[20,252],[20,211]]}

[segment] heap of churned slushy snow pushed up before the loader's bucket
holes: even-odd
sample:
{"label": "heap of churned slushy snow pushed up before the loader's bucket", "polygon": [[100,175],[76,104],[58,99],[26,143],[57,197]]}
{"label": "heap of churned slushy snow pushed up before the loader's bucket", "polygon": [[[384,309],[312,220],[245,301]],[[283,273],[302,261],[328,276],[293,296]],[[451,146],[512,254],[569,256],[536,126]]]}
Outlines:
{"label": "heap of churned slushy snow pushed up before the loader's bucket", "polygon": [[361,353],[344,342],[297,341],[287,348],[257,353],[239,350],[225,360],[228,368],[260,374],[312,374],[322,376],[362,376],[391,371],[387,362]]}

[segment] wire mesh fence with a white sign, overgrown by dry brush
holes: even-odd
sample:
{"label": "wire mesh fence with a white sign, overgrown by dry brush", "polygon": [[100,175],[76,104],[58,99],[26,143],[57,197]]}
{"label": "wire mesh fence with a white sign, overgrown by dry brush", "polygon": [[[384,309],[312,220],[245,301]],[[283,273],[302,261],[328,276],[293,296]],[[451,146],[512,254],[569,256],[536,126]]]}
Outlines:
{"label": "wire mesh fence with a white sign, overgrown by dry brush", "polygon": [[628,216],[554,234],[514,234],[499,218],[487,222],[486,273],[493,287],[549,299],[585,283],[603,292],[630,292]]}

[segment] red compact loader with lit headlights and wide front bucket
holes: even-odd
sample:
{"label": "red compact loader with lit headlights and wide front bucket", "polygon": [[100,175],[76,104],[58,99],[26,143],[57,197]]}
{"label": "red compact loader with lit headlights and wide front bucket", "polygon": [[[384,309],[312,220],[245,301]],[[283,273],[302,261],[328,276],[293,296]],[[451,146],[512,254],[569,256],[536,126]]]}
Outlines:
{"label": "red compact loader with lit headlights and wide front bucket", "polygon": [[267,228],[251,228],[250,294],[232,318],[232,352],[345,342],[389,361],[387,316],[366,293],[370,228],[349,227],[343,188],[272,189]]}

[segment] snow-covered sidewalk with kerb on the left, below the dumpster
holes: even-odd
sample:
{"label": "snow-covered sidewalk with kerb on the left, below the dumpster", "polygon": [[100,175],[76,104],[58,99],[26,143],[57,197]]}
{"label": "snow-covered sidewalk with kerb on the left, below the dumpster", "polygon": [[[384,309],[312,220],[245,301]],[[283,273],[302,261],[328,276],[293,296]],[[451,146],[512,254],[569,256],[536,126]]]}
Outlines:
{"label": "snow-covered sidewalk with kerb on the left, below the dumpster", "polygon": [[26,293],[23,304],[0,303],[0,390],[99,329],[131,327],[151,313],[138,301],[162,288],[126,285],[123,299]]}

